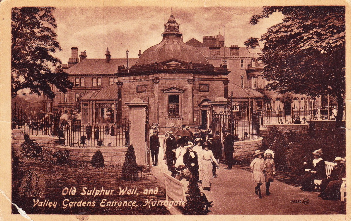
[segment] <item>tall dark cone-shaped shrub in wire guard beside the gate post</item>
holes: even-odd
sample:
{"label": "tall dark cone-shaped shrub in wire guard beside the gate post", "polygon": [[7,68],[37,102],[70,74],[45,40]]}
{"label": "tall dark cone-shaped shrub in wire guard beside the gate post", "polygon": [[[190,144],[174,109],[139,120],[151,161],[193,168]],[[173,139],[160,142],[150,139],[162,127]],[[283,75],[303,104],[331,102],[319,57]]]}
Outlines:
{"label": "tall dark cone-shaped shrub in wire guard beside the gate post", "polygon": [[[126,158],[122,167],[122,179],[130,180],[131,177],[138,177],[138,164],[133,145],[130,145],[126,152]],[[131,179],[134,180],[134,179]]]}

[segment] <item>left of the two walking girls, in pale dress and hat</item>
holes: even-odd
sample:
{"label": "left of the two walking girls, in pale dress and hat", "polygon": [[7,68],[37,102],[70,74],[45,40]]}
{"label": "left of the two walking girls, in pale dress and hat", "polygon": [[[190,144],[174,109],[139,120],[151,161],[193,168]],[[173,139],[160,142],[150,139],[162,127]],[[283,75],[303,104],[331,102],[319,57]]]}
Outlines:
{"label": "left of the two walking girls, in pale dress and hat", "polygon": [[255,194],[258,195],[259,199],[262,199],[261,195],[261,185],[265,181],[263,170],[265,167],[264,160],[262,158],[263,152],[260,150],[256,150],[253,157],[255,157],[251,164],[250,167],[253,170],[252,171],[252,178],[255,183],[257,183],[257,186],[255,187]]}

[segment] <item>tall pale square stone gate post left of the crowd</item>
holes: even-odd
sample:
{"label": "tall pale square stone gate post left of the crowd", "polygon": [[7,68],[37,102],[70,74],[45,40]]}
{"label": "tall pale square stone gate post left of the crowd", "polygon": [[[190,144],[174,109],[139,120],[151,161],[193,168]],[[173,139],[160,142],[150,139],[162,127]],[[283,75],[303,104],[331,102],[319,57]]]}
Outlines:
{"label": "tall pale square stone gate post left of the crowd", "polygon": [[147,102],[140,98],[134,98],[129,107],[130,125],[130,144],[133,145],[137,164],[147,167],[150,156],[147,156],[146,139],[145,139],[145,121]]}

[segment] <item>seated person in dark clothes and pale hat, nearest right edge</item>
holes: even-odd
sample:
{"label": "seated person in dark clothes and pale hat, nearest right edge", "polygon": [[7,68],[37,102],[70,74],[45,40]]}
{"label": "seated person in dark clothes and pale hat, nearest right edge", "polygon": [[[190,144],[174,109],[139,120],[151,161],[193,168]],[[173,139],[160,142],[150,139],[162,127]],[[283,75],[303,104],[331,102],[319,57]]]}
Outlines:
{"label": "seated person in dark clothes and pale hat, nearest right edge", "polygon": [[337,165],[333,168],[329,176],[327,176],[327,178],[324,178],[319,185],[319,188],[320,188],[320,194],[318,195],[319,197],[325,197],[325,189],[327,188],[328,184],[331,181],[341,180],[346,171],[346,168],[345,168],[346,161],[344,160],[344,158],[335,157],[334,163],[337,163]]}

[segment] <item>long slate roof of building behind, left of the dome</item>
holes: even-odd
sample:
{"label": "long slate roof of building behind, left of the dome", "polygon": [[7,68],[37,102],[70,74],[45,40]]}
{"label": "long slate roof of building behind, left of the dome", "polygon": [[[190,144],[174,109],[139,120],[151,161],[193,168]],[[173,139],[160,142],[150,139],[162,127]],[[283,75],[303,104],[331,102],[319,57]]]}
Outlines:
{"label": "long slate roof of building behind, left of the dome", "polygon": [[[129,58],[128,66],[135,65],[138,58]],[[127,66],[126,58],[111,58],[107,63],[105,58],[86,58],[67,69],[68,74],[114,74],[118,66]]]}

